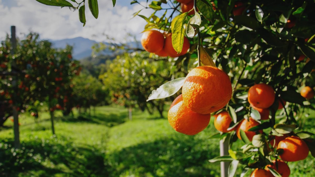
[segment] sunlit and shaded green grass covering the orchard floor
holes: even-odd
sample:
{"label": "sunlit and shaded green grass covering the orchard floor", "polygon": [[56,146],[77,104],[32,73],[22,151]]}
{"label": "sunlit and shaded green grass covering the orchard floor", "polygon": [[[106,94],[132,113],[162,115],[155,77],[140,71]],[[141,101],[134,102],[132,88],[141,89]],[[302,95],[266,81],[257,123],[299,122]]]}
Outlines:
{"label": "sunlit and shaded green grass covering the orchard floor", "polygon": [[[56,113],[56,136],[47,113],[38,123],[22,115],[20,151],[12,150],[12,128],[0,129],[0,176],[219,176],[219,163],[208,162],[219,155],[219,140],[209,139],[216,133],[213,120],[203,132],[187,136],[158,114],[134,111],[130,121],[122,107],[75,115]],[[314,132],[311,120],[305,123]],[[315,176],[311,155],[289,166],[292,176]]]}

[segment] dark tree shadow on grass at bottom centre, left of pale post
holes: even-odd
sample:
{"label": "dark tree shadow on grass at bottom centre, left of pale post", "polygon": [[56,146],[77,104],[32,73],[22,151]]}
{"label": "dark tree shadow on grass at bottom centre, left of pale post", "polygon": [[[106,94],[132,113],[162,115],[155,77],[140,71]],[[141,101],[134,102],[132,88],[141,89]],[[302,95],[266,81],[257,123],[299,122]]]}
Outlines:
{"label": "dark tree shadow on grass at bottom centre, left of pale post", "polygon": [[218,145],[190,137],[165,138],[138,144],[106,155],[111,176],[219,176],[220,164],[209,159],[219,155]]}

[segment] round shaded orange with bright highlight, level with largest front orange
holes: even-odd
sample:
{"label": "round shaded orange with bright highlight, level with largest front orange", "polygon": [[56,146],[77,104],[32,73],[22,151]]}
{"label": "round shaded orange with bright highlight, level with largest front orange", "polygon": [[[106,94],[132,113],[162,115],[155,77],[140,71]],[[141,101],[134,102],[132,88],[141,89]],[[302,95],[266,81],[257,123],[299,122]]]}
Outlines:
{"label": "round shaded orange with bright highlight, level with largest front orange", "polygon": [[255,84],[249,88],[248,102],[257,108],[268,108],[275,100],[273,88],[265,83]]}

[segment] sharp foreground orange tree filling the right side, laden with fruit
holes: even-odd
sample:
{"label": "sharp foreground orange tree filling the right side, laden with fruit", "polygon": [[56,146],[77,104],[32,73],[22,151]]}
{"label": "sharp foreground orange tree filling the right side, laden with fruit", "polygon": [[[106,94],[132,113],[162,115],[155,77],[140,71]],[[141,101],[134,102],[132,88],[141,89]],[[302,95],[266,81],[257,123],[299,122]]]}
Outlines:
{"label": "sharp foreground orange tree filling the right side, laden with fruit", "polygon": [[[65,6],[61,2],[66,2],[37,1],[55,6]],[[112,1],[115,5],[116,0]],[[97,0],[88,2],[97,18]],[[79,9],[80,20],[85,23],[85,1],[82,3],[74,8]],[[140,4],[137,0],[131,1],[134,3]],[[73,7],[69,4],[67,6]],[[144,48],[159,56],[171,57],[167,61],[174,62],[177,68],[190,70],[190,61],[196,61],[193,67],[197,63],[199,66],[193,69],[192,76],[163,84],[152,92],[148,100],[173,95],[183,85],[185,90],[196,90],[190,95],[183,91],[183,101],[178,98],[173,102],[170,111],[175,115],[176,108],[178,111],[188,108],[196,113],[209,113],[209,110],[200,110],[217,105],[207,103],[203,97],[220,100],[220,97],[228,95],[231,98],[226,106],[220,105],[210,111],[212,114],[228,111],[232,119],[226,128],[227,133],[218,134],[229,143],[229,156],[216,157],[210,162],[231,161],[229,176],[235,174],[238,166],[244,169],[242,175],[253,168],[251,176],[287,176],[288,170],[281,171],[278,166],[283,163],[276,159],[302,160],[308,151],[315,156],[314,134],[303,131],[301,119],[308,110],[315,109],[314,1],[160,0],[148,4],[144,9],[153,9],[152,15],[140,15],[141,10],[134,14],[147,21],[144,39],[141,40]],[[179,15],[174,17],[176,14]],[[157,34],[152,30],[160,31],[162,35],[149,37],[148,34]],[[185,36],[190,38],[188,53]],[[157,43],[150,42],[150,38]],[[200,67],[202,65],[206,67]],[[222,85],[220,78],[216,84],[206,82],[210,76],[213,77],[213,72],[198,75],[201,73],[199,70],[216,66],[229,76],[231,95],[212,88],[227,85]],[[174,74],[172,71],[176,69],[171,67],[170,71]],[[211,89],[215,92],[204,94],[203,90]],[[171,125],[173,118],[169,117]],[[184,122],[187,119],[175,118]],[[178,129],[176,125],[174,128]],[[231,131],[233,129],[236,131]],[[233,149],[233,142],[237,139],[244,143],[241,149]]]}

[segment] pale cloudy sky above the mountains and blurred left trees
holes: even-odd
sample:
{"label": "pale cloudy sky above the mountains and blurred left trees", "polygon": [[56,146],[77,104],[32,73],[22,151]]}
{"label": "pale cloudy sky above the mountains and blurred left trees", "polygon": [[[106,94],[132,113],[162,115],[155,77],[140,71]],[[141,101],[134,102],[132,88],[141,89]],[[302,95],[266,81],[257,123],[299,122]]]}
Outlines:
{"label": "pale cloudy sky above the mountains and blurred left trees", "polygon": [[[131,33],[139,40],[146,21],[138,16],[132,19],[131,17],[143,7],[140,4],[130,5],[130,2],[131,0],[117,0],[113,7],[111,0],[98,0],[98,19],[95,19],[86,7],[87,22],[83,27],[78,10],[73,12],[67,7],[47,6],[35,0],[0,0],[0,40],[3,40],[7,33],[10,34],[10,26],[16,26],[18,37],[34,31],[39,33],[42,39],[84,37],[106,42],[108,35],[123,42],[126,34]],[[141,4],[145,6],[146,1],[142,0]],[[140,14],[149,16],[152,12],[152,9],[143,9]]]}

